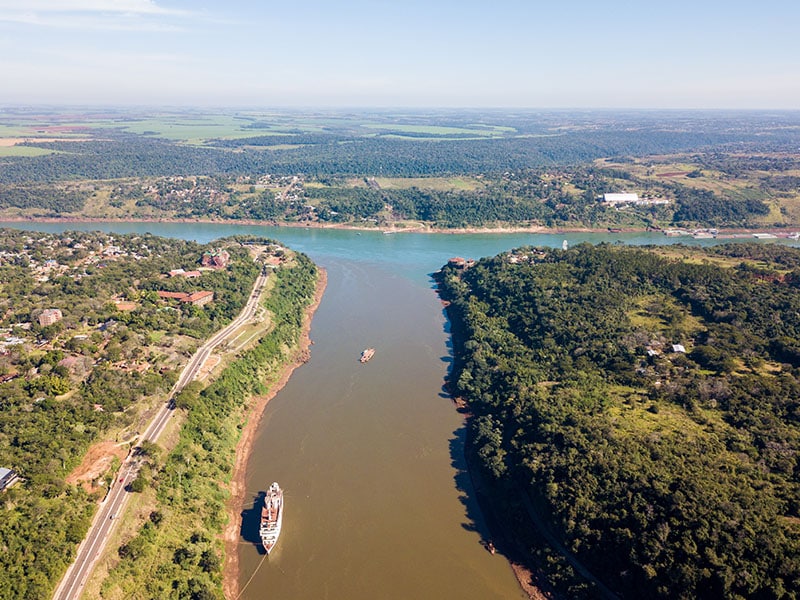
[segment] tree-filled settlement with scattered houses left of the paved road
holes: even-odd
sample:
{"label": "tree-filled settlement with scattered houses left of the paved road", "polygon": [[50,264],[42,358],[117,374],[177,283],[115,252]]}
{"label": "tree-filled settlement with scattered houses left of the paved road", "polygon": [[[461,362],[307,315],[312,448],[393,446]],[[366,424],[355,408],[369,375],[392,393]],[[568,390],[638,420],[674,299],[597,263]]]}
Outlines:
{"label": "tree-filled settlement with scattered houses left of the paved road", "polygon": [[[239,242],[218,242],[227,268],[184,279],[167,273],[197,269],[218,246],[0,230],[0,466],[22,477],[0,493],[4,598],[52,592],[113,477],[89,490],[68,474],[94,442],[132,445],[141,411],[165,400],[189,353],[244,305],[259,267]],[[215,301],[172,305],[155,293],[198,289]],[[42,326],[43,309],[62,318]]]}

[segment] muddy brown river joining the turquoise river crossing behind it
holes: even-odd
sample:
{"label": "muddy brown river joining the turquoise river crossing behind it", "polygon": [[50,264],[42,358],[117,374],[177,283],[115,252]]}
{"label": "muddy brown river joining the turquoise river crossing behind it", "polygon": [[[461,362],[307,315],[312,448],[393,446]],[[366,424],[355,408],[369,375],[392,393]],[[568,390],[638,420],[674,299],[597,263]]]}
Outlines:
{"label": "muddy brown river joining the turquoise river crossing behind it", "polygon": [[[443,392],[451,361],[431,272],[452,256],[658,234],[393,234],[172,223],[0,223],[61,232],[150,232],[209,242],[266,235],[328,270],[311,360],[269,403],[247,466],[242,598],[523,598],[488,532],[462,458],[463,420]],[[681,240],[713,243],[713,240]],[[360,364],[367,346],[375,357]],[[285,489],[284,531],[262,563],[258,498]]]}

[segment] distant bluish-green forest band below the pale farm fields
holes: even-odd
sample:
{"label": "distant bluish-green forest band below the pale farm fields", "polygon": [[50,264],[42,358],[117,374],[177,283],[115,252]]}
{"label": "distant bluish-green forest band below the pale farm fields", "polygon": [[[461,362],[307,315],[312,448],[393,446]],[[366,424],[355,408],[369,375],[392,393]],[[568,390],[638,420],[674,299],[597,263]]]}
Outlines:
{"label": "distant bluish-green forest band below the pale farm fields", "polygon": [[[666,154],[728,144],[783,147],[784,137],[754,134],[665,131],[639,126],[558,132],[498,139],[397,139],[361,135],[268,136],[226,140],[218,147],[98,130],[96,141],[26,142],[58,152],[37,157],[5,157],[0,183],[116,179],[155,175],[247,175],[419,177],[497,173],[531,166],[589,162],[596,158]],[[290,144],[286,147],[283,144]],[[226,148],[237,148],[231,152]],[[274,150],[265,149],[275,147]]]}

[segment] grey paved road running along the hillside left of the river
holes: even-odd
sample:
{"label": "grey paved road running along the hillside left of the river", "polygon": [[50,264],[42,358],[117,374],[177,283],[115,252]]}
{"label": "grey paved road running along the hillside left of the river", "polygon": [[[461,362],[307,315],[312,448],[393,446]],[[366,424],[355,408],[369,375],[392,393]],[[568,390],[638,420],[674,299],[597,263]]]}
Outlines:
{"label": "grey paved road running along the hillside left of the river", "polygon": [[[258,276],[258,279],[256,279],[250,298],[247,300],[242,312],[239,313],[239,316],[231,321],[225,328],[215,333],[205,344],[197,349],[197,352],[195,352],[194,356],[192,356],[189,363],[181,372],[177,383],[170,392],[167,402],[159,409],[158,413],[153,417],[153,420],[150,421],[147,429],[145,429],[145,432],[140,437],[140,443],[142,441],[158,441],[158,438],[161,436],[167,423],[169,423],[170,417],[175,409],[175,401],[173,399],[175,394],[180,392],[197,376],[203,363],[211,355],[214,348],[224,342],[228,336],[239,327],[253,318],[258,308],[258,302],[261,299],[261,292],[264,289],[266,280],[266,273],[262,272],[261,275]],[[125,509],[125,504],[130,496],[130,492],[126,491],[125,488],[136,478],[136,474],[139,472],[139,461],[140,457],[136,449],[130,452],[123,461],[119,472],[114,478],[111,490],[100,505],[100,510],[97,511],[86,537],[78,547],[78,555],[75,558],[75,562],[69,566],[64,578],[61,580],[58,588],[56,588],[56,592],[53,596],[55,600],[73,600],[80,598],[83,586],[89,579],[94,563],[105,548],[109,534],[117,521],[117,516],[122,514],[122,511]]]}

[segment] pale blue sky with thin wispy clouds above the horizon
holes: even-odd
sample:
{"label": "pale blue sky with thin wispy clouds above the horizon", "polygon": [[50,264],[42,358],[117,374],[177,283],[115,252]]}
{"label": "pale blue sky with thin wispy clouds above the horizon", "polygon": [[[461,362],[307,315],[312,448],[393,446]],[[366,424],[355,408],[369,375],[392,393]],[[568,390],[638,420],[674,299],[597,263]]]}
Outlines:
{"label": "pale blue sky with thin wispy clouds above the horizon", "polygon": [[797,0],[0,0],[0,104],[800,109]]}

